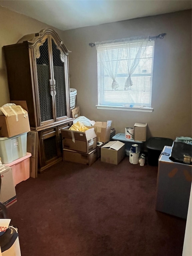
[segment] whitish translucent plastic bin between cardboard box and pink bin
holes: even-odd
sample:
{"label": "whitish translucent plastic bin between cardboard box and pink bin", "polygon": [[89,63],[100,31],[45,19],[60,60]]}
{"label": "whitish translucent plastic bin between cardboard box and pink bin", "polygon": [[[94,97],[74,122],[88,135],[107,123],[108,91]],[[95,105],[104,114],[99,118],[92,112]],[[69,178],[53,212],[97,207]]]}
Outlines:
{"label": "whitish translucent plastic bin between cardboard box and pink bin", "polygon": [[10,138],[0,137],[0,157],[2,164],[9,164],[27,154],[27,133]]}

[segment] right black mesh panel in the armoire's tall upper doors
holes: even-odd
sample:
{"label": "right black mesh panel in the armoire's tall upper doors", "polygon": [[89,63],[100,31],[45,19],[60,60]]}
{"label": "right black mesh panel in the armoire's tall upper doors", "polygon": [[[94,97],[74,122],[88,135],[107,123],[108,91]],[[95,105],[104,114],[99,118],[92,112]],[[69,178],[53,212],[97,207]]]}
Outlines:
{"label": "right black mesh panel in the armoire's tall upper doors", "polygon": [[52,53],[53,53],[53,70],[54,78],[56,82],[56,117],[62,117],[67,115],[66,111],[66,93],[65,93],[65,75],[64,75],[64,63],[60,58],[60,50],[57,49],[54,41],[52,40]]}

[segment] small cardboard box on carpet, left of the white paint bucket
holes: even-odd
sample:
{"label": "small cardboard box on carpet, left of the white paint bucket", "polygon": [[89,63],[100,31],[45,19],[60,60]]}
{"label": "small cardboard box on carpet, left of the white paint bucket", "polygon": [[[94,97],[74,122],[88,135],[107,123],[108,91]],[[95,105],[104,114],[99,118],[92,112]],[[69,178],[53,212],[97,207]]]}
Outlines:
{"label": "small cardboard box on carpet, left of the white paint bucket", "polygon": [[110,141],[101,147],[101,162],[119,164],[125,157],[125,143]]}

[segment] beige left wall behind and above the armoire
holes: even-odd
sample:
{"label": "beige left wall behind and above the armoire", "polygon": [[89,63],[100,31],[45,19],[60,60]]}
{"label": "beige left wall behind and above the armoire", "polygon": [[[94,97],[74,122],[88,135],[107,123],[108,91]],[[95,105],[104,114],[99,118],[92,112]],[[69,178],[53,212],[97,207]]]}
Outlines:
{"label": "beige left wall behind and above the armoire", "polygon": [[[9,102],[7,71],[2,47],[8,44],[16,44],[24,35],[37,33],[48,27],[53,28],[0,6],[0,107]],[[61,30],[53,29],[61,36]]]}

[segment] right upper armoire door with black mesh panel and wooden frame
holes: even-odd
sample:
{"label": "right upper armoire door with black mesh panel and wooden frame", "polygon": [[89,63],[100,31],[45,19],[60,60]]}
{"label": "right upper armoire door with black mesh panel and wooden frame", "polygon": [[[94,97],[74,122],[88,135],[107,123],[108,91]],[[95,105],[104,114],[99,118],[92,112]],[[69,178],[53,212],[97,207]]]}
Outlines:
{"label": "right upper armoire door with black mesh panel and wooden frame", "polygon": [[66,75],[64,53],[58,49],[53,39],[51,42],[54,76],[53,92],[55,98],[55,121],[59,121],[67,118],[66,79],[68,79],[68,77]]}

